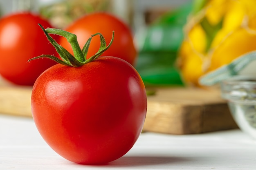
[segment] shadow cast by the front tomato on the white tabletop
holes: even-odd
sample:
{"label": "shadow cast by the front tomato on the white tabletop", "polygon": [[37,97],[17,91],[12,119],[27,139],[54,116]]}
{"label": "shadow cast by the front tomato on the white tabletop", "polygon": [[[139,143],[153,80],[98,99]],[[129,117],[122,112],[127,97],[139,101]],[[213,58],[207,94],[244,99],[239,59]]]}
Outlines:
{"label": "shadow cast by the front tomato on the white tabletop", "polygon": [[108,163],[108,167],[131,167],[131,166],[152,166],[172,164],[191,161],[187,157],[164,157],[164,156],[124,156]]}

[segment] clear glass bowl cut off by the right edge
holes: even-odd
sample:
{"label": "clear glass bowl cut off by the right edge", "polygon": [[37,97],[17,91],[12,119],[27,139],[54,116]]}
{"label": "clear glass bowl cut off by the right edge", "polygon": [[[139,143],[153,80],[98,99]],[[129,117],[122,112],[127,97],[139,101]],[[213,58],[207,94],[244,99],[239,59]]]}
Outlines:
{"label": "clear glass bowl cut off by the right edge", "polygon": [[256,139],[256,76],[236,75],[220,86],[238,127]]}

